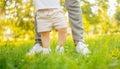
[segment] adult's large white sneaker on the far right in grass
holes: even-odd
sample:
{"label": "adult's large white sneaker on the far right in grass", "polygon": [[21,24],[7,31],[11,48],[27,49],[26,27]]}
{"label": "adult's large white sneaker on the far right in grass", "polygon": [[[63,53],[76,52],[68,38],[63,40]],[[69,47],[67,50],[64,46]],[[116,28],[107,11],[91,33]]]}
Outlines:
{"label": "adult's large white sneaker on the far right in grass", "polygon": [[87,48],[88,45],[82,43],[82,42],[78,42],[77,46],[76,46],[76,51],[78,53],[82,53],[83,55],[87,55],[89,53],[91,53],[89,51],[89,49]]}

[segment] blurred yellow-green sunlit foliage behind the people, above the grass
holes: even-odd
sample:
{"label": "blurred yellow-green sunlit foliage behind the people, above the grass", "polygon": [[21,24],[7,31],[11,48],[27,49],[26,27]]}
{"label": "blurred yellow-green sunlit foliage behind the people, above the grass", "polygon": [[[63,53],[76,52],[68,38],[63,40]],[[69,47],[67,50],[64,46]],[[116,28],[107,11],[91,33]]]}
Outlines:
{"label": "blurred yellow-green sunlit foliage behind the people, above the grass", "polygon": [[[120,34],[120,0],[80,1],[85,37]],[[64,0],[61,7],[68,18]],[[32,0],[0,0],[0,41],[34,39],[34,15]]]}

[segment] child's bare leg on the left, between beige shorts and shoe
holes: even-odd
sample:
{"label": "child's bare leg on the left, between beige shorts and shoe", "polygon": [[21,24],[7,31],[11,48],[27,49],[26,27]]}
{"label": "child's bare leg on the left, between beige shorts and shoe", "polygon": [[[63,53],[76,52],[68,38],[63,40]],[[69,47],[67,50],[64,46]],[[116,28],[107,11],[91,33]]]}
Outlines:
{"label": "child's bare leg on the left, between beige shorts and shoe", "polygon": [[41,32],[41,40],[42,40],[42,45],[43,48],[50,48],[50,36],[49,36],[50,32]]}

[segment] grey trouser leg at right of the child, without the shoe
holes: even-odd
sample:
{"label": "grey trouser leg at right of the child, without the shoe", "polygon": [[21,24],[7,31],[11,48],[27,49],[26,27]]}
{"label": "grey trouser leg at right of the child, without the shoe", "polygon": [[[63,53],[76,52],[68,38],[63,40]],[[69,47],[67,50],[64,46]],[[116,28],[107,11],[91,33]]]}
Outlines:
{"label": "grey trouser leg at right of the child, without the shoe", "polygon": [[84,42],[84,28],[82,25],[82,10],[80,8],[80,0],[66,0],[65,3],[69,13],[72,35],[75,44],[77,44],[77,42]]}

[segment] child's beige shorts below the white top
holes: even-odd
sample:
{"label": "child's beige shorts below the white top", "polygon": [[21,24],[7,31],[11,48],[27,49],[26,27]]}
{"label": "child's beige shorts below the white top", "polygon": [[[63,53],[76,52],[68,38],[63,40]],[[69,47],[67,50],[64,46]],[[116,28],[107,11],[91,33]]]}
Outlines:
{"label": "child's beige shorts below the white top", "polygon": [[37,31],[46,32],[55,29],[67,28],[67,20],[60,9],[46,9],[37,11]]}

